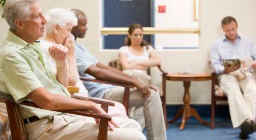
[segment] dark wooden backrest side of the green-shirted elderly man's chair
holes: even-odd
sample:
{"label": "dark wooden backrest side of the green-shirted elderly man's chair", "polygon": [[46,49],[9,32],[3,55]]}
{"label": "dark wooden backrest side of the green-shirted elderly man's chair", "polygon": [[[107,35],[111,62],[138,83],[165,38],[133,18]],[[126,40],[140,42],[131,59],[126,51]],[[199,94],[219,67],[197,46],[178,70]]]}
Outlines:
{"label": "dark wooden backrest side of the green-shirted elderly man's chair", "polygon": [[22,115],[20,113],[19,105],[15,103],[11,96],[5,95],[2,92],[0,92],[0,98],[4,99],[7,108],[11,129],[11,138],[22,140],[27,139],[27,133],[23,123]]}

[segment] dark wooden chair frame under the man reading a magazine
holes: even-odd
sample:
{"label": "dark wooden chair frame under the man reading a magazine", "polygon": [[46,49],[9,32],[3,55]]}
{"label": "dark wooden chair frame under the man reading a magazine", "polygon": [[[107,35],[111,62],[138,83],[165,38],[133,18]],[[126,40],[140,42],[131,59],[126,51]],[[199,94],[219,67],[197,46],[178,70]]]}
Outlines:
{"label": "dark wooden chair frame under the man reading a magazine", "polygon": [[228,101],[228,98],[225,96],[216,96],[215,95],[215,85],[217,84],[217,75],[215,72],[212,72],[211,75],[211,129],[214,129],[214,118],[216,111],[216,102],[217,101]]}

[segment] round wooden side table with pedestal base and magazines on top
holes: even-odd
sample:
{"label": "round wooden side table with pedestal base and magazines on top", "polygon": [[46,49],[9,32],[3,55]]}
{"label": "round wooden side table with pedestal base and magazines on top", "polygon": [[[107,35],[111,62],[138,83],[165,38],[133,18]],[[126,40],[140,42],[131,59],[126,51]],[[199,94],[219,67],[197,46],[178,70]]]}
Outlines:
{"label": "round wooden side table with pedestal base and magazines on top", "polygon": [[171,81],[183,81],[183,85],[185,88],[184,96],[183,96],[183,102],[184,106],[178,110],[175,117],[168,121],[168,123],[173,123],[178,118],[182,116],[181,126],[180,130],[183,130],[186,121],[189,120],[190,117],[195,117],[196,120],[198,120],[202,124],[210,124],[207,121],[202,120],[202,118],[198,115],[198,112],[195,108],[190,107],[190,95],[189,95],[189,87],[191,81],[207,81],[211,80],[211,74],[205,73],[205,74],[175,74],[175,73],[169,73],[166,75],[163,75],[163,92],[166,94],[166,80]]}

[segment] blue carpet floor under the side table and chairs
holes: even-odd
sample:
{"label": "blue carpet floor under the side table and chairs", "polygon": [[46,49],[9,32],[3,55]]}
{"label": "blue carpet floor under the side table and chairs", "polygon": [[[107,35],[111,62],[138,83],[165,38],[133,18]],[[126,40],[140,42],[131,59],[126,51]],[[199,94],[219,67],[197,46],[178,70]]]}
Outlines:
{"label": "blue carpet floor under the side table and chairs", "polygon": [[[168,120],[175,116],[176,109],[180,106],[167,106],[167,117]],[[210,106],[193,106],[199,112],[199,115],[205,120],[210,122]],[[208,108],[208,110],[207,110]],[[210,126],[204,126],[199,123],[194,117],[189,118],[184,127],[184,130],[180,130],[181,118],[173,124],[169,124],[169,129],[166,130],[167,139],[172,140],[184,140],[184,139],[193,139],[193,140],[205,140],[205,139],[240,139],[239,133],[240,129],[233,129],[229,113],[228,106],[224,106],[223,111],[221,108],[216,110],[216,119],[215,119],[215,129],[211,130]],[[170,111],[172,110],[172,111]],[[170,113],[172,112],[172,113]],[[146,135],[146,129],[143,130],[143,133]],[[249,139],[256,139],[256,133],[250,135]]]}

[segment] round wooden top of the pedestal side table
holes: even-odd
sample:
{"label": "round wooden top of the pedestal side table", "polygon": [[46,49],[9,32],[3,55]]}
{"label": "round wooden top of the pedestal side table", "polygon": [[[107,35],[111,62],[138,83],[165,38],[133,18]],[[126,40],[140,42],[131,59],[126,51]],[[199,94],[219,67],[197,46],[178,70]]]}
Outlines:
{"label": "round wooden top of the pedestal side table", "polygon": [[177,74],[168,73],[164,75],[166,80],[172,81],[207,81],[211,80],[211,73],[201,73],[201,74]]}

